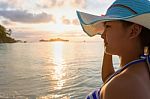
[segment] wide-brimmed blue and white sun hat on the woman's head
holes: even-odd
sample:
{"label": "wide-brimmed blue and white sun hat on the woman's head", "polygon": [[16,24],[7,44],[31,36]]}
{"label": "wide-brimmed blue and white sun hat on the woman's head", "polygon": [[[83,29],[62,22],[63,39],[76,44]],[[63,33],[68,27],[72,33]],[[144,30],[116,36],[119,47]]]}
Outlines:
{"label": "wide-brimmed blue and white sun hat on the woman's head", "polygon": [[116,0],[105,15],[92,15],[77,11],[84,32],[89,36],[101,34],[103,22],[124,20],[150,29],[150,0]]}

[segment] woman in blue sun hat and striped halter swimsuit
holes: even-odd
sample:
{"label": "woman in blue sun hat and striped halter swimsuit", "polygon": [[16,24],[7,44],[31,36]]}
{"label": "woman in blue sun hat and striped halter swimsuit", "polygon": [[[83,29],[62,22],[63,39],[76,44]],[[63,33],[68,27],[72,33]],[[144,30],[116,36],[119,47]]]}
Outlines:
{"label": "woman in blue sun hat and striped halter swimsuit", "polygon": [[[83,30],[101,34],[104,84],[87,99],[150,99],[150,1],[116,0],[104,16],[77,11]],[[120,57],[114,71],[112,55]]]}

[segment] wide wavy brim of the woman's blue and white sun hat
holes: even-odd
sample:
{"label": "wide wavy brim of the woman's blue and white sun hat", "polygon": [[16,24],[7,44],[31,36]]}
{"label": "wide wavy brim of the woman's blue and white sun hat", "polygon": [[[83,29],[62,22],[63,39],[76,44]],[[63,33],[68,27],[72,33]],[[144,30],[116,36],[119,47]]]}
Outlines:
{"label": "wide wavy brim of the woman's blue and white sun hat", "polygon": [[80,11],[77,11],[77,15],[84,32],[86,32],[89,36],[101,34],[104,31],[103,22],[114,20],[130,21],[150,29],[150,12],[128,17],[107,15],[97,16]]}

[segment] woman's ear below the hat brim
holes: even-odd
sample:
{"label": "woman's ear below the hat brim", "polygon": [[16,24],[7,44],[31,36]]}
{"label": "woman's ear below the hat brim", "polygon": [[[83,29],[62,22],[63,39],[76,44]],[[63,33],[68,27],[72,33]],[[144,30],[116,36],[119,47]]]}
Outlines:
{"label": "woman's ear below the hat brim", "polygon": [[141,33],[142,31],[142,26],[141,25],[138,25],[138,24],[133,24],[131,27],[130,27],[131,31],[130,31],[130,39],[133,39],[133,38],[136,38],[139,36],[139,34]]}

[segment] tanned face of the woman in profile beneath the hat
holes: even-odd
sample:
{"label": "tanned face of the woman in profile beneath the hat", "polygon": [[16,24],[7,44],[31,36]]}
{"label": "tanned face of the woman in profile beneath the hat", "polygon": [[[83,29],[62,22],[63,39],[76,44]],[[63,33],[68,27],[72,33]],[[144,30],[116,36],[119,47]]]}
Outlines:
{"label": "tanned face of the woman in profile beneath the hat", "polygon": [[104,23],[104,39],[105,52],[113,55],[120,55],[126,51],[129,44],[129,29],[125,28],[120,21],[110,21]]}

